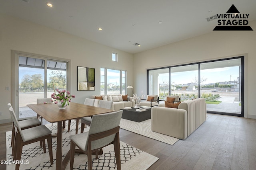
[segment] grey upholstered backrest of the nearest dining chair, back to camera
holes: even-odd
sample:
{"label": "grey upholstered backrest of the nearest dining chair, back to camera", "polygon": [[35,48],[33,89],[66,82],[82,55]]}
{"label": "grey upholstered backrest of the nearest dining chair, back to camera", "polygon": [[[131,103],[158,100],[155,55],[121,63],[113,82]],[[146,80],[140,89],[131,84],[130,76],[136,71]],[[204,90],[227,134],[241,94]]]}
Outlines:
{"label": "grey upholstered backrest of the nearest dining chair, back to camera", "polygon": [[[110,129],[114,129],[115,127],[119,127],[122,113],[123,113],[123,111],[120,110],[120,111],[115,111],[112,113],[93,115],[92,123],[90,125],[90,129],[89,129],[89,133],[88,133],[88,139],[89,139],[90,135],[108,131]],[[92,150],[108,145],[109,143],[114,141],[115,137],[116,137],[116,133],[109,135],[107,137],[98,139],[96,141],[92,141],[92,143],[91,143]],[[84,150],[87,149],[88,139],[86,141]]]}

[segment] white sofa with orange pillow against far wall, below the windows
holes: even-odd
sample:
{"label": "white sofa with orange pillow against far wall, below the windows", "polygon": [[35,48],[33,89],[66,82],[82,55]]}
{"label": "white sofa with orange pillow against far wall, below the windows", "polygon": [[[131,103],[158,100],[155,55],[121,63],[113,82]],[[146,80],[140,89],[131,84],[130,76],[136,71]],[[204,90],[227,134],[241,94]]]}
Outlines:
{"label": "white sofa with orange pillow against far wall, below the windows", "polygon": [[[102,96],[103,100],[110,100],[110,101],[113,101],[113,105],[112,105],[112,109],[115,110],[115,111],[119,111],[120,109],[123,109],[124,107],[134,107],[135,106],[135,103],[132,102],[132,97],[129,97],[128,96],[128,100],[127,101],[121,101],[121,97],[122,96],[121,94],[108,94],[108,95],[92,95],[92,98],[95,99],[95,97],[100,97]],[[111,98],[110,98],[111,96]],[[119,97],[119,100],[113,100],[113,96],[116,96],[116,97]],[[95,102],[94,102],[94,106],[98,106],[98,102],[100,100],[99,99],[95,99]]]}

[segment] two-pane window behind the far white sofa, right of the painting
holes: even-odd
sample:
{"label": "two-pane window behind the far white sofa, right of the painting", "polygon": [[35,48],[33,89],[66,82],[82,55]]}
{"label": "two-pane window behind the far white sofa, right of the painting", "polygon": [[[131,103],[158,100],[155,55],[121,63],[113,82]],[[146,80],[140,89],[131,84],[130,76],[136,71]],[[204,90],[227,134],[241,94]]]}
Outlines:
{"label": "two-pane window behind the far white sofa, right of the painting", "polygon": [[126,94],[126,71],[100,68],[100,94]]}

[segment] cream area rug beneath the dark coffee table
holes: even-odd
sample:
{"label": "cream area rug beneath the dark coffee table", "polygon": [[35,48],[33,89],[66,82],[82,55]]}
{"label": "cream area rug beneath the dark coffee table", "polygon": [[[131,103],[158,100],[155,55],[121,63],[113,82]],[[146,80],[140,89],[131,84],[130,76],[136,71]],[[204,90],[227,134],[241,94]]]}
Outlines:
{"label": "cream area rug beneath the dark coffee table", "polygon": [[137,133],[139,135],[149,137],[151,139],[155,139],[157,141],[167,143],[169,145],[174,145],[174,143],[176,143],[179,140],[175,137],[151,131],[151,119],[142,122],[121,119],[120,128]]}

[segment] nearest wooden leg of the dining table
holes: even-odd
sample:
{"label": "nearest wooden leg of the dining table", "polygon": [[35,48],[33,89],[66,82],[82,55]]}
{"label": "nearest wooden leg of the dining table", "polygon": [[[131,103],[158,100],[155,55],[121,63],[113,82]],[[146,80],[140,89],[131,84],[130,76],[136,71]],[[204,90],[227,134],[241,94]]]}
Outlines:
{"label": "nearest wooden leg of the dining table", "polygon": [[62,170],[62,121],[58,121],[57,127],[56,170]]}

